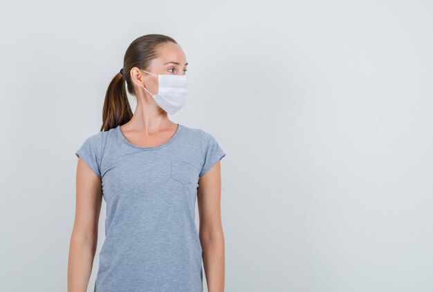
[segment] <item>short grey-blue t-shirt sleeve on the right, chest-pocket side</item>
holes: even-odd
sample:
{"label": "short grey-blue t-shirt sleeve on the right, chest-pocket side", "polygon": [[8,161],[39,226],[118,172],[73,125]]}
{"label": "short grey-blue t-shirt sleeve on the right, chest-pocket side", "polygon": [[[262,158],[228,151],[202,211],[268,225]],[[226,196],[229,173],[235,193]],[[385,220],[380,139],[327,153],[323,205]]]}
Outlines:
{"label": "short grey-blue t-shirt sleeve on the right, chest-pocket side", "polygon": [[225,152],[221,149],[216,139],[209,133],[200,130],[201,133],[201,153],[203,155],[203,166],[200,176],[207,173],[210,168],[225,156]]}

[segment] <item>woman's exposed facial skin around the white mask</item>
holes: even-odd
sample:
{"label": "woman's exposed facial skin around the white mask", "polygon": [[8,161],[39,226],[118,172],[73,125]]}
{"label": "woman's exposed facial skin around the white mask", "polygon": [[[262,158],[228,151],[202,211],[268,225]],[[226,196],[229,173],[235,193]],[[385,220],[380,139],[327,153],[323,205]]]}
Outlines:
{"label": "woman's exposed facial skin around the white mask", "polygon": [[[188,63],[181,46],[172,42],[164,43],[159,46],[158,51],[159,57],[151,61],[146,71],[155,75],[185,75]],[[158,77],[147,72],[140,72],[142,73],[142,81],[145,88],[151,93],[157,94]],[[141,89],[144,90],[143,88]]]}

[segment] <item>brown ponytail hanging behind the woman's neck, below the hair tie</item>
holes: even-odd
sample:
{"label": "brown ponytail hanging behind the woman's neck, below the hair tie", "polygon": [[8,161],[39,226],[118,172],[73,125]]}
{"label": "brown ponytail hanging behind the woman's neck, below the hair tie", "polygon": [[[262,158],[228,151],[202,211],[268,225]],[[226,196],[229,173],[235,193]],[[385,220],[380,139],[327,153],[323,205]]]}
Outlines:
{"label": "brown ponytail hanging behind the woman's neck, below the hair tie", "polygon": [[132,118],[132,110],[129,105],[125,79],[118,72],[111,80],[107,93],[105,93],[104,108],[102,108],[102,130],[109,130],[122,126]]}

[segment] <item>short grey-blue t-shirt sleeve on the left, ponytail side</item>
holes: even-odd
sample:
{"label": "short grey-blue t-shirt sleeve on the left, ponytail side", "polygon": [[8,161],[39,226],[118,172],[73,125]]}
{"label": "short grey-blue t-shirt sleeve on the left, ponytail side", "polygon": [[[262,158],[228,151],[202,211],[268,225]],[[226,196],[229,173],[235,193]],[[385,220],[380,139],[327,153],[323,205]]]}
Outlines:
{"label": "short grey-blue t-shirt sleeve on the left, ponytail side", "polygon": [[75,152],[77,157],[81,157],[87,165],[98,175],[101,177],[100,171],[100,155],[102,148],[102,132],[92,135],[87,138],[86,141],[82,144],[80,149]]}

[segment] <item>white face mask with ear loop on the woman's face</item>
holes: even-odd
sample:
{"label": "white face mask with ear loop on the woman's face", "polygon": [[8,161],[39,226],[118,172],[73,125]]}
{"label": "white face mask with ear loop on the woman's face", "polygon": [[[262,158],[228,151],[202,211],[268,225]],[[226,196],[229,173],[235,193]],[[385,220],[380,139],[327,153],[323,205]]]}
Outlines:
{"label": "white face mask with ear loop on the woman's face", "polygon": [[[142,71],[147,72],[145,70]],[[174,115],[185,105],[188,99],[186,75],[155,75],[151,72],[147,73],[158,77],[158,94],[152,94],[145,86],[142,86],[142,88],[154,97],[158,106],[170,115]]]}

